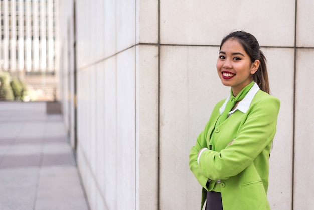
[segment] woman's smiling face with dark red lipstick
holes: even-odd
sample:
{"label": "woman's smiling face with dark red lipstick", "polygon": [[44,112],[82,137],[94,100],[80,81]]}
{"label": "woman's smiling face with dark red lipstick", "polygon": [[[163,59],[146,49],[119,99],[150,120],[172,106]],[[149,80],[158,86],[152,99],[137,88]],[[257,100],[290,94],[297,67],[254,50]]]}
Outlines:
{"label": "woman's smiling face with dark red lipstick", "polygon": [[222,84],[230,86],[236,96],[252,81],[253,74],[259,67],[259,60],[251,63],[238,40],[230,38],[221,46],[216,67]]}

